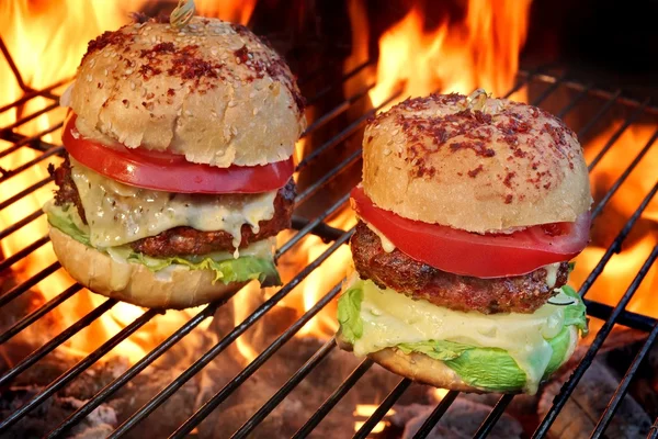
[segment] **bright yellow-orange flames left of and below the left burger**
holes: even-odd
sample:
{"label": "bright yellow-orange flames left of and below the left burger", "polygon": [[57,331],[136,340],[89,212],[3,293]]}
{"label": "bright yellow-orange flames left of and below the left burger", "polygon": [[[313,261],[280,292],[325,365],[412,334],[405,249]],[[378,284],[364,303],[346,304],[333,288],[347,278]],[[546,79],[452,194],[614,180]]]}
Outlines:
{"label": "bright yellow-orange flames left of and below the left burger", "polygon": [[[34,89],[43,89],[59,81],[71,79],[80,63],[82,54],[87,49],[87,43],[107,30],[114,30],[129,21],[129,12],[138,11],[144,2],[134,0],[121,0],[113,2],[89,2],[66,0],[27,1],[12,0],[0,4],[0,36],[8,46],[12,59],[16,64],[24,82]],[[71,31],[71,30],[75,30]],[[0,60],[0,83],[3,85],[3,94],[0,105],[11,103],[23,94],[16,83],[14,75],[2,58]],[[60,94],[65,86],[56,88],[54,92]],[[0,114],[0,126],[9,126],[16,120],[33,114],[52,104],[52,100],[35,98],[23,108],[19,106]],[[30,123],[21,125],[16,132],[31,136],[50,128],[64,119],[65,109],[55,109],[46,112]],[[60,130],[44,135],[43,140],[60,145]],[[12,144],[1,140],[0,150]],[[16,151],[0,159],[2,169],[14,169],[18,166],[37,158],[37,153],[29,147],[19,148]],[[53,157],[49,160],[29,168],[15,177],[0,183],[0,202],[8,200],[15,193],[48,177],[46,165],[57,165],[60,160]],[[54,183],[33,192],[21,199],[11,206],[0,212],[0,229],[14,224],[41,209],[41,206],[53,196]],[[27,244],[47,235],[47,223],[45,216],[27,224],[15,233],[3,238],[1,241],[2,255],[7,258],[23,249]],[[29,257],[12,266],[14,274],[19,280],[25,280],[39,272],[56,258],[49,244],[30,254]],[[25,294],[41,293],[44,301],[58,295],[73,281],[63,270],[58,270],[39,282],[32,292]],[[68,301],[59,305],[54,313],[61,326],[59,331],[78,322],[80,317],[99,306],[105,297],[91,294],[83,290]],[[133,337],[120,344],[114,354],[136,361],[163,340],[169,334],[184,324],[190,315],[200,309],[186,309],[182,313],[167,313],[146,324]],[[71,338],[66,346],[72,353],[86,354],[95,349],[135,318],[140,316],[144,309],[118,303],[91,326]],[[207,327],[208,320],[201,325]]]}

